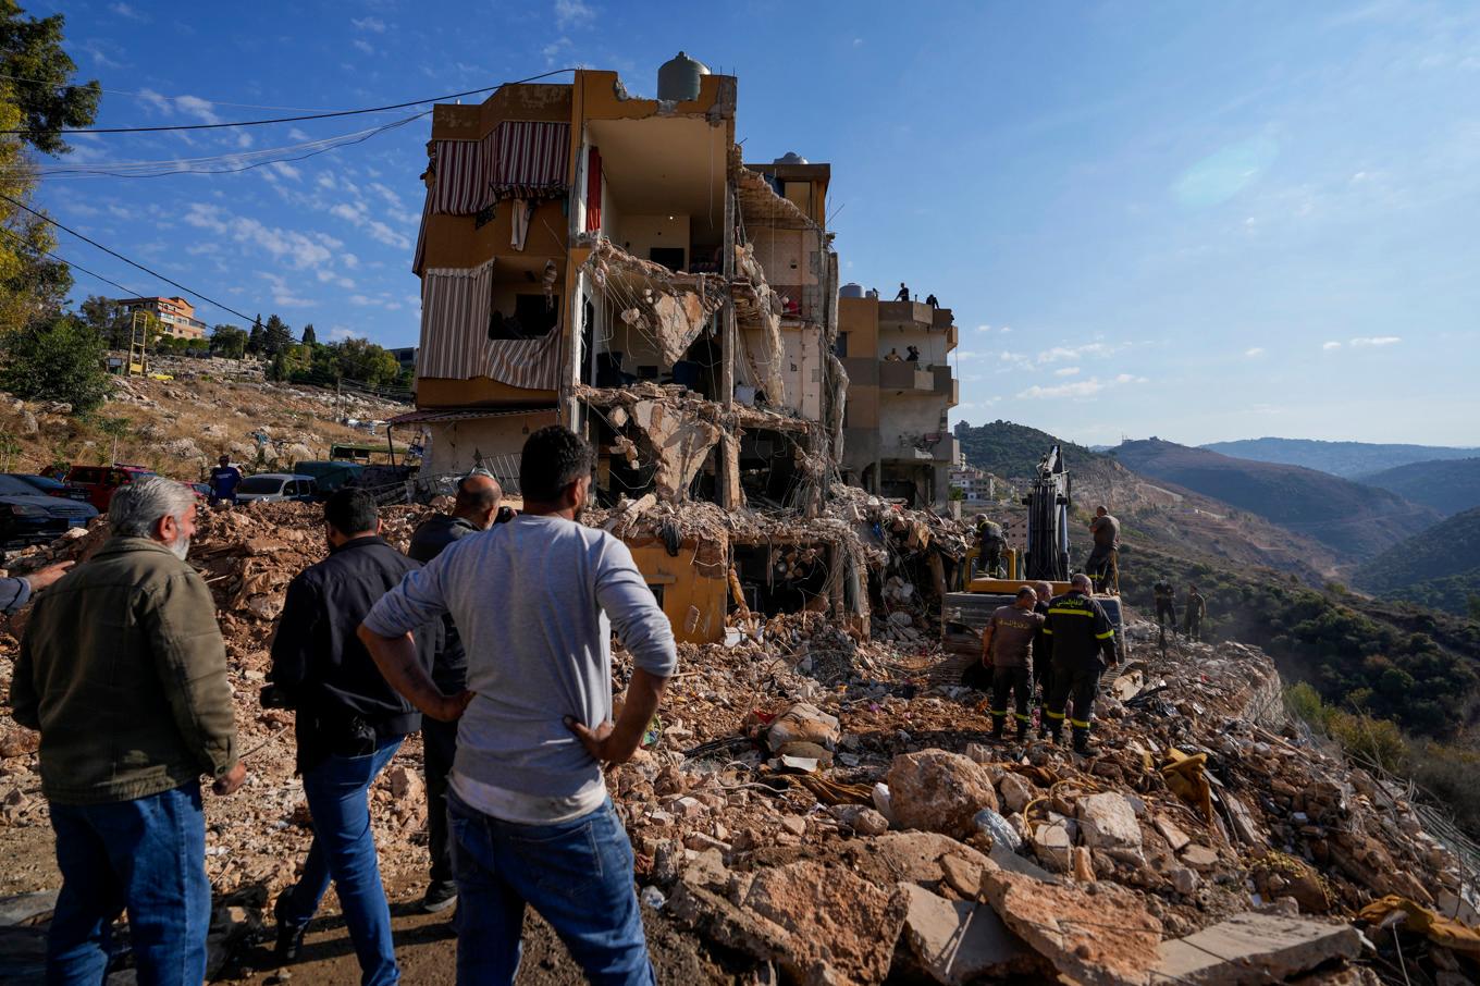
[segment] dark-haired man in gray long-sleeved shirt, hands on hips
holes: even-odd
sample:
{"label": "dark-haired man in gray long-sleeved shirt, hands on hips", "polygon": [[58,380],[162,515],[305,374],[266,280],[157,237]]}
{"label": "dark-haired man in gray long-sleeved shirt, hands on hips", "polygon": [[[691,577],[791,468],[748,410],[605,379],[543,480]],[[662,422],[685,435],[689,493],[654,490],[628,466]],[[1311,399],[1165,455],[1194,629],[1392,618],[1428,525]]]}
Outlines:
{"label": "dark-haired man in gray long-sleeved shirt, hands on hips", "polygon": [[[462,717],[447,796],[460,983],[514,982],[525,905],[593,982],[654,982],[601,764],[638,749],[678,654],[628,546],[577,521],[591,471],[591,446],[570,429],[530,435],[524,512],[448,545],[360,628],[401,694],[434,718]],[[468,654],[459,696],[437,688],[407,637],[444,613]],[[633,663],[614,724],[613,631]]]}

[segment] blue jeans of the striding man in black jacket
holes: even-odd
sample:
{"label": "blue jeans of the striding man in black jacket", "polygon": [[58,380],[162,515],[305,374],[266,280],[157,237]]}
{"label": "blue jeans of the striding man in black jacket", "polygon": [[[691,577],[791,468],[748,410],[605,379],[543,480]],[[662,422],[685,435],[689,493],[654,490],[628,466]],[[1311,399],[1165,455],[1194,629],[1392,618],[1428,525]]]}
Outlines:
{"label": "blue jeans of the striding man in black jacket", "polygon": [[366,757],[330,757],[303,773],[303,795],[314,816],[314,845],[308,850],[303,875],[278,902],[278,921],[292,928],[303,927],[318,910],[332,878],[364,986],[389,986],[401,980],[391,942],[391,906],[385,902],[370,831],[370,785],[400,746],[397,736]]}

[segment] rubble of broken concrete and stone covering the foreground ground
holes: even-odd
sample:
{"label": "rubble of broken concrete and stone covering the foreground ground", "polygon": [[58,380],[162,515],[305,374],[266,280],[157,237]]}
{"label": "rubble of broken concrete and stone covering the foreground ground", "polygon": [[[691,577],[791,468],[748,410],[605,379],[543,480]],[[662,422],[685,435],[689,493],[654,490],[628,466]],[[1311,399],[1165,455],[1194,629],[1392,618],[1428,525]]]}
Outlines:
{"label": "rubble of broken concrete and stone covering the foreground ground", "polygon": [[[386,511],[388,539],[404,546],[422,514]],[[102,534],[27,561],[78,557]],[[213,512],[192,554],[219,607],[252,770],[237,796],[207,799],[216,955],[249,968],[263,968],[263,909],[309,842],[292,714],[263,711],[258,691],[283,589],[321,555],[318,511],[302,505]],[[10,657],[24,623],[0,637]],[[1132,660],[1097,709],[1103,754],[1083,759],[992,743],[961,659],[913,629],[904,645],[860,643],[798,613],[752,620],[730,645],[681,647],[657,746],[610,773],[666,982],[1477,977],[1474,871],[1402,792],[1285,722],[1261,651],[1177,644],[1163,657],[1134,626]],[[34,734],[0,718],[4,897],[58,882],[34,751]],[[373,805],[385,881],[411,899],[426,866],[414,737]],[[33,939],[46,897],[34,900]],[[1397,906],[1428,910],[1391,924]],[[1425,931],[1433,912],[1459,924]],[[327,927],[321,940],[337,934],[343,955],[342,925]],[[450,961],[451,942],[416,934]],[[556,982],[558,965],[524,982]]]}

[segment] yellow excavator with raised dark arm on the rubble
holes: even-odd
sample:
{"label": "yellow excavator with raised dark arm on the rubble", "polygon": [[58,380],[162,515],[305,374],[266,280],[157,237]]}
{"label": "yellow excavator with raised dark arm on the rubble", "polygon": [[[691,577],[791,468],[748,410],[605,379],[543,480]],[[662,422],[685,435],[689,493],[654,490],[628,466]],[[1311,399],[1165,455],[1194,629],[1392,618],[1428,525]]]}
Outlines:
{"label": "yellow excavator with raised dark arm on the rubble", "polygon": [[[1011,606],[1024,585],[1048,582],[1054,595],[1069,592],[1069,508],[1073,497],[1069,468],[1058,446],[1039,459],[1037,475],[1023,503],[1027,506],[1027,546],[1021,554],[1011,548],[1002,552],[1008,577],[977,574],[972,561],[974,554],[980,555],[980,548],[974,548],[966,557],[965,591],[946,594],[941,603],[941,644],[947,650],[980,656],[981,631],[992,620],[992,613],[999,606]],[[1120,597],[1095,594],[1095,600],[1114,625],[1116,648],[1123,662],[1126,651],[1125,634],[1120,632]]]}

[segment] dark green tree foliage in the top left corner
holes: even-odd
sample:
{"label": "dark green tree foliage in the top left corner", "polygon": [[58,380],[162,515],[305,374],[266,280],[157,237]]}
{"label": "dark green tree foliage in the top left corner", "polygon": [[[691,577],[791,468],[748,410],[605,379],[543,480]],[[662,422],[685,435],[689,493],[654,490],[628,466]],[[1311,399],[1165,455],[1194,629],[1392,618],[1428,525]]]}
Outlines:
{"label": "dark green tree foliage in the top left corner", "polygon": [[25,16],[15,0],[0,0],[0,74],[25,80],[16,81],[10,95],[19,110],[16,129],[44,154],[71,150],[59,132],[90,126],[102,95],[96,78],[71,84],[77,62],[62,50],[65,24],[61,13],[38,21]]}

